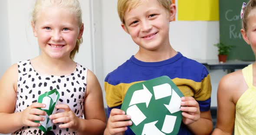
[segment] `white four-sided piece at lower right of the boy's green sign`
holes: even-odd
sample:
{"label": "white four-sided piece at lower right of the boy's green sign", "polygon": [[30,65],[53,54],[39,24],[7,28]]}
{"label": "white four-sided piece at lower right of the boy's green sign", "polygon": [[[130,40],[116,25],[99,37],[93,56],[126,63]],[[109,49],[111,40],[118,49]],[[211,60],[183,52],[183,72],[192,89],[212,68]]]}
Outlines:
{"label": "white four-sided piece at lower right of the boy's green sign", "polygon": [[177,116],[166,115],[164,118],[164,124],[161,131],[167,134],[170,134],[171,132],[173,132],[176,118]]}

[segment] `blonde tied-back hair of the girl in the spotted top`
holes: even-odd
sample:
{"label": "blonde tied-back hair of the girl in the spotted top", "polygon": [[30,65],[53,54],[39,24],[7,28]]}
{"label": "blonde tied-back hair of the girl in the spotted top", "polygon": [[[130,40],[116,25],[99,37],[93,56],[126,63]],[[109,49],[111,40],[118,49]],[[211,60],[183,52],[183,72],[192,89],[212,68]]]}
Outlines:
{"label": "blonde tied-back hair of the girl in the spotted top", "polygon": [[[69,9],[71,13],[74,13],[78,21],[79,27],[82,26],[82,10],[78,0],[36,0],[33,12],[32,12],[32,23],[36,23],[36,19],[39,13],[44,8],[49,6],[59,6]],[[71,51],[69,58],[74,59],[76,52],[79,50],[79,45],[82,43],[82,38],[76,40],[75,48]]]}

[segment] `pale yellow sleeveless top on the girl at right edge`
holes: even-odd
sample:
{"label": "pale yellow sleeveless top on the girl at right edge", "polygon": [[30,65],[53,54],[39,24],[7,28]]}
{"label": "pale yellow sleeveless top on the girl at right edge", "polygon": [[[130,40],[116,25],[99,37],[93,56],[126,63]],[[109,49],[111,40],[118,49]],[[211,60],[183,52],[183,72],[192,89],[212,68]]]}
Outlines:
{"label": "pale yellow sleeveless top on the girl at right edge", "polygon": [[256,135],[256,87],[253,86],[253,65],[243,68],[248,89],[236,103],[235,135]]}

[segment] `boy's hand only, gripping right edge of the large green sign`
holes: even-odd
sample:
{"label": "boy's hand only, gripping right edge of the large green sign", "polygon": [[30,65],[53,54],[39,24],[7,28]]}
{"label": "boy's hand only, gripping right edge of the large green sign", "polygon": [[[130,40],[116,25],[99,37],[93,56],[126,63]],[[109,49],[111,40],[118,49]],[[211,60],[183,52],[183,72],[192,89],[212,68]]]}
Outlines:
{"label": "boy's hand only, gripping right edge of the large green sign", "polygon": [[185,125],[191,124],[200,119],[199,104],[192,96],[181,97],[182,122]]}

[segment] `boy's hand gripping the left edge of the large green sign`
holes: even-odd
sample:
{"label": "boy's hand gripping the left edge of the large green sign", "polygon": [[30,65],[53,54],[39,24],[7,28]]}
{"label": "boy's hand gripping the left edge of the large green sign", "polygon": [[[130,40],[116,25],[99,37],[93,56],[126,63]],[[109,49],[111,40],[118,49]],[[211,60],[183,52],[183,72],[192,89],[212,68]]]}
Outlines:
{"label": "boy's hand gripping the left edge of the large green sign", "polygon": [[122,135],[127,126],[131,125],[131,121],[125,121],[131,119],[131,116],[125,115],[125,112],[121,109],[112,109],[108,118],[107,134],[105,135]]}

